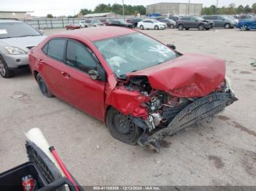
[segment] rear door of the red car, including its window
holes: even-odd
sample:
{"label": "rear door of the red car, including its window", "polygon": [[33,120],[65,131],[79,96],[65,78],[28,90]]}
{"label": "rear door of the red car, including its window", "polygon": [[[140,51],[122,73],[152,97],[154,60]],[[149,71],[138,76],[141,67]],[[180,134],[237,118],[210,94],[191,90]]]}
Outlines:
{"label": "rear door of the red car, including its window", "polygon": [[66,44],[67,39],[65,38],[50,39],[42,48],[44,54],[37,58],[39,74],[45,79],[51,93],[64,101],[68,101],[64,74],[62,73],[65,69]]}

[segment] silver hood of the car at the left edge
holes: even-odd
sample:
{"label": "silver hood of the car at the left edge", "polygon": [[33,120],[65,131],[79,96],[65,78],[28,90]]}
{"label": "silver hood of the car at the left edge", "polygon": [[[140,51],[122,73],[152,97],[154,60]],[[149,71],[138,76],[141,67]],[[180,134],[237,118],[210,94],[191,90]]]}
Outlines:
{"label": "silver hood of the car at the left edge", "polygon": [[35,47],[42,42],[47,36],[24,36],[18,38],[0,39],[0,44],[4,46],[19,47],[25,51],[29,51],[27,47]]}

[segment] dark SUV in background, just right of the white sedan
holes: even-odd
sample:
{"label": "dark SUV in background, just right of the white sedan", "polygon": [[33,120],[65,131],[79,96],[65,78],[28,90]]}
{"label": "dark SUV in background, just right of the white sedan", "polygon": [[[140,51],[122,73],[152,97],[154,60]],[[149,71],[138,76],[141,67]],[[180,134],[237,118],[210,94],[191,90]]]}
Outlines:
{"label": "dark SUV in background, just right of the white sedan", "polygon": [[181,17],[179,20],[176,21],[176,27],[179,31],[189,30],[189,28],[198,28],[200,31],[209,30],[210,28],[214,27],[214,22],[204,20],[202,17],[197,16],[188,16],[188,17]]}

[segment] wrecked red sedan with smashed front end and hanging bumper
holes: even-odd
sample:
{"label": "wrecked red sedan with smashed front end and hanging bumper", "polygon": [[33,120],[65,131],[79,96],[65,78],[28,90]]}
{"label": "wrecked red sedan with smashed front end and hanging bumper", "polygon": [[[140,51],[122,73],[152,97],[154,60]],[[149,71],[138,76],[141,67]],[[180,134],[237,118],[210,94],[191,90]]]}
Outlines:
{"label": "wrecked red sedan with smashed front end and hanging bumper", "polygon": [[236,101],[225,61],[181,54],[129,28],[49,36],[29,53],[40,90],[105,122],[116,139],[156,151],[167,135]]}

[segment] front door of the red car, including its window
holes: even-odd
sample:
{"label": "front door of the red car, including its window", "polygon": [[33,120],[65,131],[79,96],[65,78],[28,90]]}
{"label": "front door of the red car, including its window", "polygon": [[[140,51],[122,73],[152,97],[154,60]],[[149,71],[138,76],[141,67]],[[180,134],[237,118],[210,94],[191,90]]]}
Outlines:
{"label": "front door of the red car, including its window", "polygon": [[64,79],[69,103],[99,120],[104,120],[105,82],[93,80],[89,76],[90,70],[102,71],[95,55],[84,44],[68,39],[66,64],[63,72],[67,76]]}

